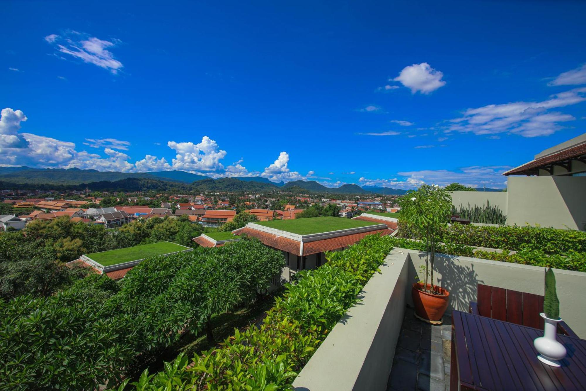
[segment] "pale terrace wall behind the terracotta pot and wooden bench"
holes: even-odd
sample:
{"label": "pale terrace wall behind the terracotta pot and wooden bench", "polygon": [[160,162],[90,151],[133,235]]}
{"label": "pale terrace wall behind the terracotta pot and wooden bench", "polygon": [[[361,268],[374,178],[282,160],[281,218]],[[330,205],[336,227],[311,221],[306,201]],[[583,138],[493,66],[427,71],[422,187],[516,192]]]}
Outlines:
{"label": "pale terrace wall behind the terracotta pot and wooden bench", "polygon": [[[415,281],[420,265],[425,264],[425,252],[404,249],[395,251],[409,254],[408,281]],[[478,284],[536,295],[544,294],[544,268],[541,267],[445,254],[438,254],[434,265],[435,284],[449,291],[448,314],[454,309],[468,312],[469,303],[476,301]],[[586,273],[561,269],[554,269],[554,272],[557,296],[560,299],[560,316],[575,333],[585,338],[586,301],[580,288],[586,284]],[[410,294],[407,295],[407,302],[413,306]]]}

